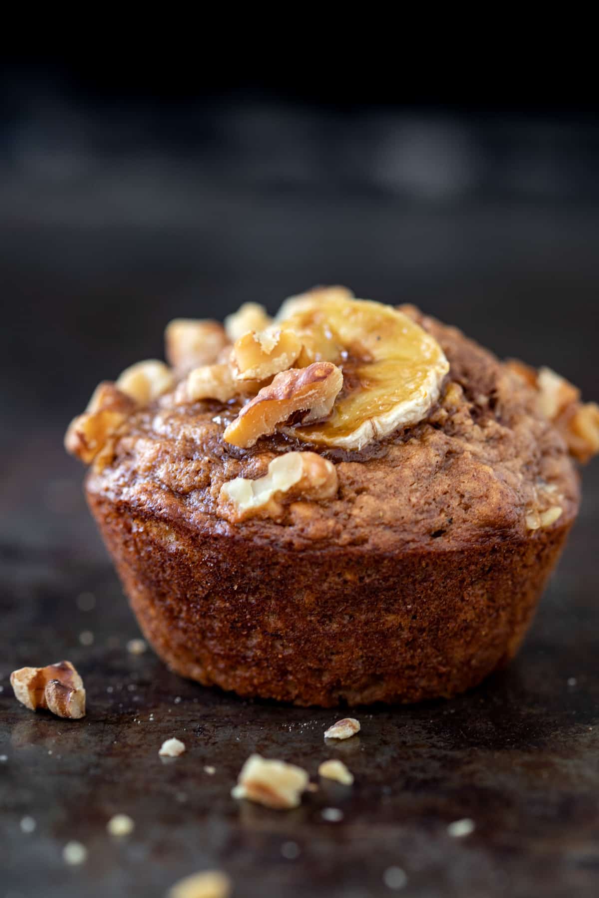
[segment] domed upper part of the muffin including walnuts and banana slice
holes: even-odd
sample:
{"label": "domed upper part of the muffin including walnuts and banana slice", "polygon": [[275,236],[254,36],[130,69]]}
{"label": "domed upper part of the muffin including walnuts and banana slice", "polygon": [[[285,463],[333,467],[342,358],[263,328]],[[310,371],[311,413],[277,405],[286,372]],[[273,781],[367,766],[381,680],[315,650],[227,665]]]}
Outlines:
{"label": "domed upper part of the muffin including walnuts and banana slice", "polygon": [[[330,308],[364,330],[369,306],[331,289]],[[296,298],[282,321],[330,296]],[[87,489],[137,519],[300,550],[466,549],[576,514],[571,453],[599,449],[599,409],[549,369],[501,363],[410,306],[370,335],[389,343],[397,327],[400,349],[352,337],[334,361],[317,341],[327,327],[295,317],[281,337],[265,314],[243,307],[226,331],[172,322],[172,369],[101,384],[66,436],[92,462]]]}

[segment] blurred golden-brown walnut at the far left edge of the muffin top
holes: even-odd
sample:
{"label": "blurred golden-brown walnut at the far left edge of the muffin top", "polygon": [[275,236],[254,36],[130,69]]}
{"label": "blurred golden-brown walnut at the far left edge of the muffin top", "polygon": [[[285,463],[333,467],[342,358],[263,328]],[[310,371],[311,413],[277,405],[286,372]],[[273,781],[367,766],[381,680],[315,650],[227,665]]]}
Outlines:
{"label": "blurred golden-brown walnut at the far left edge of the muffin top", "polygon": [[66,451],[84,464],[91,464],[135,409],[136,402],[114,383],[100,383],[83,415],[71,421],[65,435]]}

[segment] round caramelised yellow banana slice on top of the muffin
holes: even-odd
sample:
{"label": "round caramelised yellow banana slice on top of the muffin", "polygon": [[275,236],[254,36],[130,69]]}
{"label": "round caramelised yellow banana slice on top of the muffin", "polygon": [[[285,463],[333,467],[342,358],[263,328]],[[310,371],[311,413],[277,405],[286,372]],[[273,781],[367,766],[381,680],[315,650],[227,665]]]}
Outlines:
{"label": "round caramelised yellow banana slice on top of the muffin", "polygon": [[304,342],[295,365],[339,365],[344,387],[330,418],[290,427],[317,445],[361,449],[397,427],[417,424],[436,402],[449,363],[439,344],[390,305],[353,299],[340,288],[284,304],[279,318]]}

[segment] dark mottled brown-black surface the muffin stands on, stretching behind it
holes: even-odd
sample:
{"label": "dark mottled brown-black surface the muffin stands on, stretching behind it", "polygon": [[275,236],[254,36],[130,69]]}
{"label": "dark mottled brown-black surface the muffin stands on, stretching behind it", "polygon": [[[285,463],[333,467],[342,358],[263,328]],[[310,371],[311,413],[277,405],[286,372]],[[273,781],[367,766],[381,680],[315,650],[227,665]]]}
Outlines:
{"label": "dark mottled brown-black surface the muffin stands on, stretching behind it", "polygon": [[[318,281],[415,301],[599,395],[599,216],[405,216],[364,200],[315,215],[305,199],[254,207],[246,197],[205,204],[179,230],[104,229],[32,225],[25,206],[0,241],[0,898],[158,898],[207,867],[227,870],[239,898],[391,895],[389,867],[407,875],[400,894],[421,898],[597,894],[596,465],[515,663],[451,702],[360,710],[359,737],[329,747],[322,733],[334,712],[244,702],[182,681],[149,651],[128,654],[136,624],[84,508],[82,472],[60,443],[97,380],[160,351],[172,315],[226,313],[262,296],[272,306]],[[87,594],[95,605],[84,611]],[[92,646],[81,644],[85,630]],[[63,657],[87,688],[79,722],[22,708],[8,681],[15,666]],[[157,751],[172,735],[187,752],[163,762]],[[240,805],[230,789],[252,751],[313,774],[339,757],[356,784],[325,786],[289,813]],[[326,806],[343,821],[325,822]],[[136,821],[123,841],[105,829],[118,812]],[[37,823],[31,834],[25,815]],[[447,824],[462,817],[476,829],[456,840]],[[89,851],[82,867],[62,860],[73,839]],[[297,857],[285,856],[287,842]]]}

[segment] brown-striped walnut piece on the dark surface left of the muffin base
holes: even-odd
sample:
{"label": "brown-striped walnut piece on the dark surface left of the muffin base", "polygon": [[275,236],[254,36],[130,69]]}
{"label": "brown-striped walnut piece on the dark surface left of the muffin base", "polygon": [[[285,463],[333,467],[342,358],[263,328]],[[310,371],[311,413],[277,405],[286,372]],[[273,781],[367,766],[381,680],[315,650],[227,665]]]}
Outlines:
{"label": "brown-striped walnut piece on the dark surface left of the muffin base", "polygon": [[21,667],[11,674],[15,697],[32,711],[46,709],[58,718],[85,715],[84,683],[70,661],[46,667]]}

